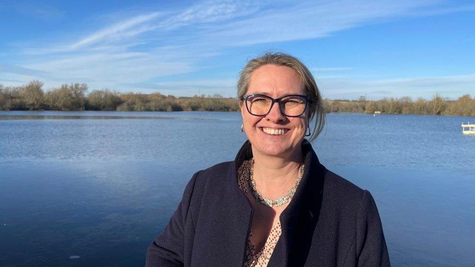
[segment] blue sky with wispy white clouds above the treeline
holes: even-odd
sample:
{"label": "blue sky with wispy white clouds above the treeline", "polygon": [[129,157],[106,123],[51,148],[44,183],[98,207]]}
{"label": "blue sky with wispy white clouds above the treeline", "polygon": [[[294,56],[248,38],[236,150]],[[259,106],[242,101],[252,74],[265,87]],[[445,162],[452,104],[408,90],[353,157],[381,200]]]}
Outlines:
{"label": "blue sky with wispy white clouds above the treeline", "polygon": [[330,99],[475,94],[475,2],[2,1],[0,84],[236,95],[238,71],[291,53]]}

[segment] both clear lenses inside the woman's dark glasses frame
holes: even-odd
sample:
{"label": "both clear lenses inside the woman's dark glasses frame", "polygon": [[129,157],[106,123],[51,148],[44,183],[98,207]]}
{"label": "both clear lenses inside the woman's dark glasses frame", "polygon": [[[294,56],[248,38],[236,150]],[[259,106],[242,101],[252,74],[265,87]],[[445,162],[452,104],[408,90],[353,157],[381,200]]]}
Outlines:
{"label": "both clear lenses inside the woman's dark glasses frame", "polygon": [[[307,100],[301,96],[286,96],[280,100],[280,108],[286,116],[300,116],[305,110]],[[251,95],[246,100],[249,112],[262,116],[271,110],[272,99],[262,95]]]}

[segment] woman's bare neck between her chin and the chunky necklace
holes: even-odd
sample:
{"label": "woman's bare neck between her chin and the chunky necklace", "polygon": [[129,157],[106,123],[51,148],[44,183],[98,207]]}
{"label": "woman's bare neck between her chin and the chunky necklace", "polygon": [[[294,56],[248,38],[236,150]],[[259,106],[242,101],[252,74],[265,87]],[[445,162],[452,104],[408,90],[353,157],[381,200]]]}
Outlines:
{"label": "woman's bare neck between her chin and the chunky necklace", "polygon": [[263,155],[253,149],[253,157],[256,188],[263,196],[271,199],[287,194],[295,184],[299,168],[303,164],[301,147],[287,157]]}

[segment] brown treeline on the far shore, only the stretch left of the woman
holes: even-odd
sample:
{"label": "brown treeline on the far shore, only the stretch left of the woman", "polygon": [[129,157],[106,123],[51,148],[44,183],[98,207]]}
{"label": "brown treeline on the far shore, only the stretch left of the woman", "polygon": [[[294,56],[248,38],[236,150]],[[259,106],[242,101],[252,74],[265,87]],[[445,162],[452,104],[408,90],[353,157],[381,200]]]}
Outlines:
{"label": "brown treeline on the far shore, only the stretch left of the woman", "polygon": [[212,96],[175,97],[159,92],[121,93],[108,89],[86,94],[87,84],[64,84],[44,91],[43,83],[31,81],[19,87],[0,85],[0,110],[117,110],[117,111],[235,111],[235,98]]}

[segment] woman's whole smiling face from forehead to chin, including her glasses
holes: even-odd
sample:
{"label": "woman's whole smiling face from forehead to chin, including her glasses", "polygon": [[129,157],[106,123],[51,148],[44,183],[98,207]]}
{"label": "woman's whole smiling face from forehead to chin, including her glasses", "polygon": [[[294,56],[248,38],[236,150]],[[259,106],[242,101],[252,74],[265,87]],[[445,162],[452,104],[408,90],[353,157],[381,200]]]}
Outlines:
{"label": "woman's whole smiling face from forehead to chin, including her glasses", "polygon": [[[252,144],[253,155],[259,160],[274,161],[267,157],[269,155],[297,162],[302,156],[299,147],[311,115],[310,109],[306,109],[308,98],[303,95],[299,75],[290,67],[267,64],[253,71],[247,87],[249,94],[241,97],[246,108],[242,107],[243,101],[240,107],[243,129]],[[277,102],[278,105],[274,105]],[[276,135],[276,132],[283,134]]]}

